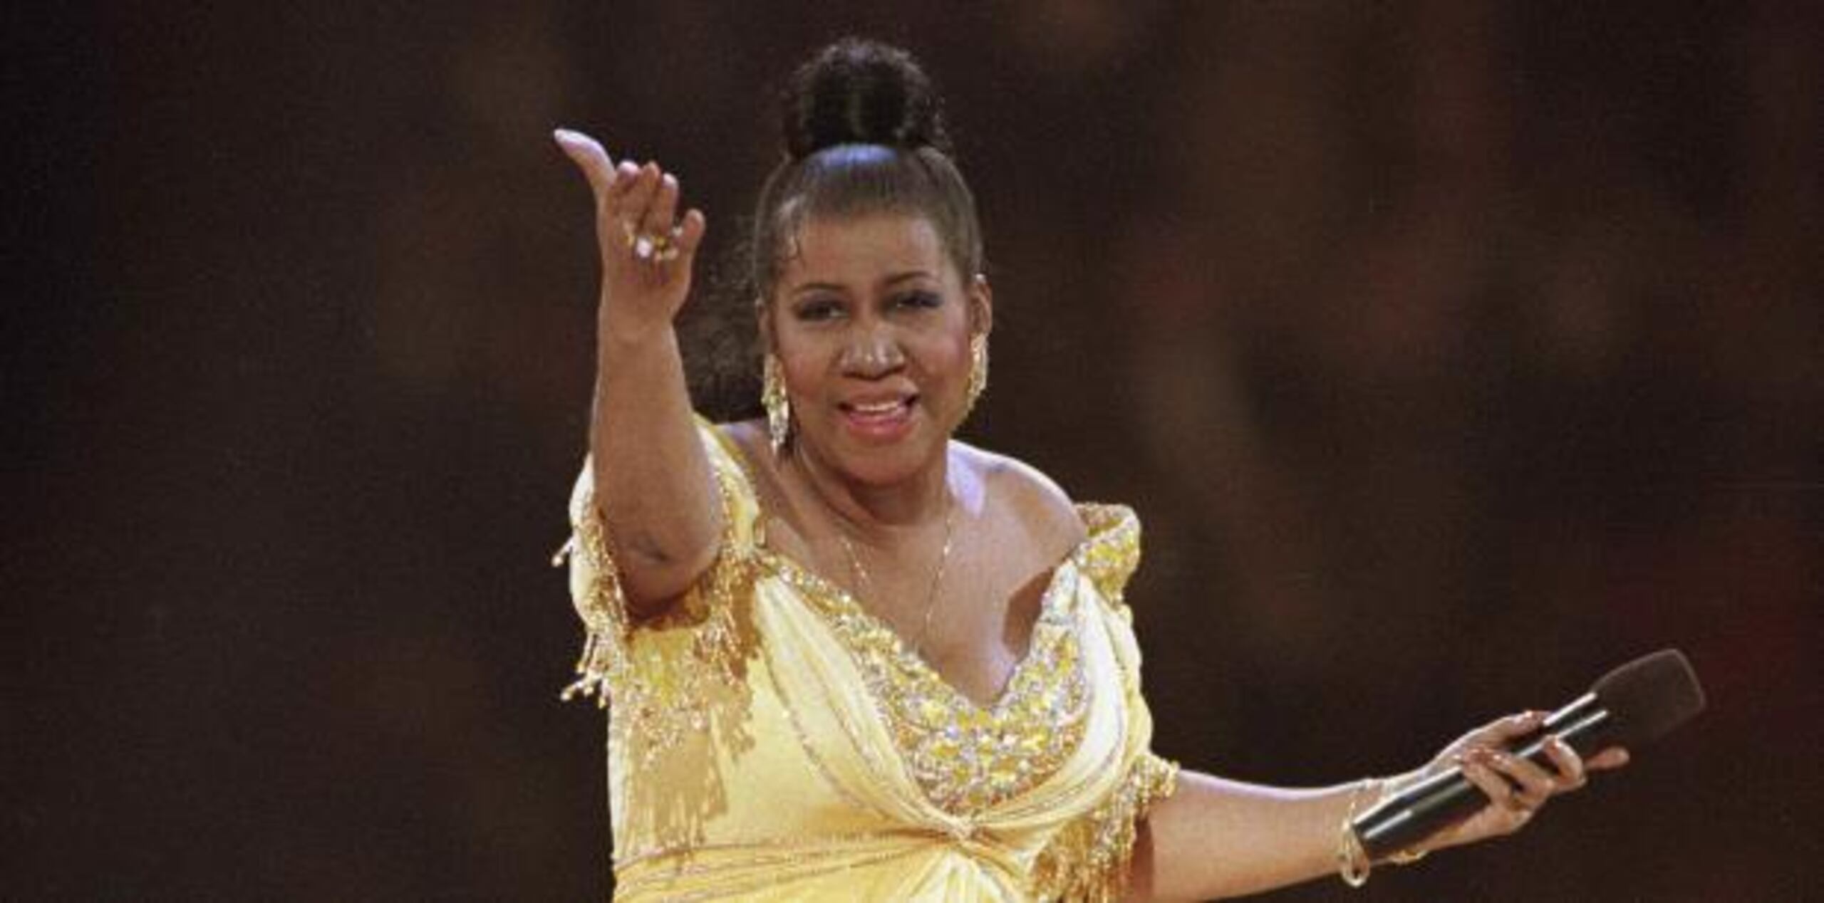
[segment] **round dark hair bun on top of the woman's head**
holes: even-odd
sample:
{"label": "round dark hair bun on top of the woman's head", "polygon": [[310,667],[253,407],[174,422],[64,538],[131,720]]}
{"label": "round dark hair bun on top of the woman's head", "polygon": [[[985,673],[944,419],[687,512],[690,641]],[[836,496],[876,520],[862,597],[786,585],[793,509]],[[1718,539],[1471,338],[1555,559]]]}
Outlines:
{"label": "round dark hair bun on top of the woman's head", "polygon": [[830,44],[792,75],[784,91],[792,159],[837,144],[936,148],[950,153],[941,102],[910,53],[863,38]]}

